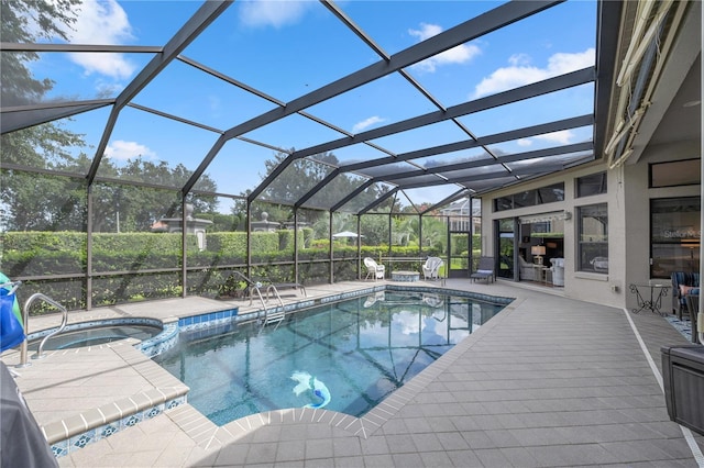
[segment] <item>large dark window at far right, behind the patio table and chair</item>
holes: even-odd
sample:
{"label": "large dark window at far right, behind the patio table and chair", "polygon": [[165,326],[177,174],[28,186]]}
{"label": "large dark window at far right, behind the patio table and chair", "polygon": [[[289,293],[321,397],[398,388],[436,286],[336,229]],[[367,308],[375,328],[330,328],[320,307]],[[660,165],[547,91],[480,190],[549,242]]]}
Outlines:
{"label": "large dark window at far right, behind the patio table and chair", "polygon": [[650,277],[700,270],[698,197],[650,200]]}

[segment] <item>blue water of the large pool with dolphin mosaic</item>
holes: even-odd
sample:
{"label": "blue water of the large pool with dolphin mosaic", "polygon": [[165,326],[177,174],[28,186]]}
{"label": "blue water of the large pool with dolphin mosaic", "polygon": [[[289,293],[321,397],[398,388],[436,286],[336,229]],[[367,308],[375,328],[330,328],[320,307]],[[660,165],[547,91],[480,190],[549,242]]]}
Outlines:
{"label": "blue water of the large pool with dolphin mosaic", "polygon": [[219,425],[306,405],[361,416],[504,307],[382,291],[289,314],[278,327],[241,324],[206,341],[182,333],[154,360]]}

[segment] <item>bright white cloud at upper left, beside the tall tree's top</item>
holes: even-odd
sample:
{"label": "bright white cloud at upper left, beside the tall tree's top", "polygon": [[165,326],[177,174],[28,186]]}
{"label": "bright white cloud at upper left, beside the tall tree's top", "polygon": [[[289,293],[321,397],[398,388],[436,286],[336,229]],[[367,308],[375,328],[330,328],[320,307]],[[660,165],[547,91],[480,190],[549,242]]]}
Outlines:
{"label": "bright white cloud at upper left, beside the tall tree's top", "polygon": [[[87,0],[80,3],[76,13],[75,31],[70,34],[74,44],[113,45],[133,37],[128,15],[116,0]],[[131,77],[136,67],[123,54],[81,53],[70,54],[70,58],[84,67],[86,75],[97,73],[117,79]]]}

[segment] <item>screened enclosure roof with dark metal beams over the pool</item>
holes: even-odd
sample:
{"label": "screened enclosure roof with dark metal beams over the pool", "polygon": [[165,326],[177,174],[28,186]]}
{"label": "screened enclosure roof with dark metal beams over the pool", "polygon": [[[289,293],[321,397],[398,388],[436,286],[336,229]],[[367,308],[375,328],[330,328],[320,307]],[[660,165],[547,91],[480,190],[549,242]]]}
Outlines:
{"label": "screened enclosure roof with dark metal beams over the pool", "polygon": [[596,100],[612,83],[597,46],[614,51],[616,34],[600,15],[619,2],[100,4],[76,9],[66,38],[3,36],[1,51],[54,83],[3,99],[2,134],[85,135],[67,152],[88,156],[76,174],[89,183],[141,159],[178,167],[164,185],[184,196],[360,213],[601,157]]}

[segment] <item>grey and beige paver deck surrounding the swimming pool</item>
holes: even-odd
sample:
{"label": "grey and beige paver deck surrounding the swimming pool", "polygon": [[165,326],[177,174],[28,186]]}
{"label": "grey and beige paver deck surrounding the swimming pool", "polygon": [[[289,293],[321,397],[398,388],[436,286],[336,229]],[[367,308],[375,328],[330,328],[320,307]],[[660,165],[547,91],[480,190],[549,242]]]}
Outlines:
{"label": "grey and beige paver deck surrounding the swimming pool", "polygon": [[[380,283],[309,287],[308,299]],[[688,342],[666,319],[503,281],[446,287],[516,300],[369,417],[295,409],[217,427],[182,404],[59,457],[59,466],[704,466],[704,437],[667,413],[660,348]],[[244,301],[188,298],[73,313],[70,323],[169,321],[228,307],[250,310]],[[32,317],[30,328],[57,323]],[[19,359],[1,357],[11,368]],[[96,409],[184,390],[129,342],[52,352],[14,370],[36,420],[53,430],[85,423]]]}

